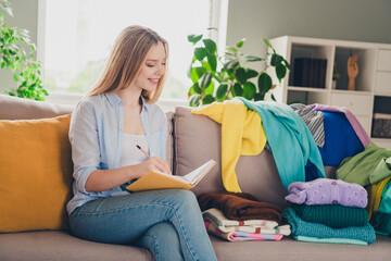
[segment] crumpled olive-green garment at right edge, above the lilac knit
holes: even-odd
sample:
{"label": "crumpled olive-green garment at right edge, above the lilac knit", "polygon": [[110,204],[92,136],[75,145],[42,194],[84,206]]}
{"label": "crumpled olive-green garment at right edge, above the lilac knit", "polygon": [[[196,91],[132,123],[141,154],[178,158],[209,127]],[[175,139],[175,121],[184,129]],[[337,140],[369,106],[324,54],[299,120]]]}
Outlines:
{"label": "crumpled olive-green garment at right edge, above the lilac knit", "polygon": [[363,152],[344,159],[337,169],[336,178],[362,186],[376,184],[391,175],[391,165],[384,160],[391,150],[370,142]]}

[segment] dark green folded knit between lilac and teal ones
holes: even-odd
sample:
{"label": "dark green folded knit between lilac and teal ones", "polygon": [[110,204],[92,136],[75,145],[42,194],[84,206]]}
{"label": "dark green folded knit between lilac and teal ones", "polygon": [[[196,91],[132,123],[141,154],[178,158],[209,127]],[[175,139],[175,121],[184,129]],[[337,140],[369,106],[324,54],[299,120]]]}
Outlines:
{"label": "dark green folded knit between lilac and teal ones", "polygon": [[292,203],[292,209],[303,221],[317,222],[330,227],[364,226],[368,223],[368,213],[363,208]]}

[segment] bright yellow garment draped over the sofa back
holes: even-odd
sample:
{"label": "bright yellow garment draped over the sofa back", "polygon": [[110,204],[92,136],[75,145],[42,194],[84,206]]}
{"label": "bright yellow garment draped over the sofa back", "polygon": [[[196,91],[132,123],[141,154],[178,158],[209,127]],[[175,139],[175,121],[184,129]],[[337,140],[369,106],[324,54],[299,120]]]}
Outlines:
{"label": "bright yellow garment draped over the sofa back", "polygon": [[222,124],[222,178],[227,191],[241,192],[235,173],[240,156],[256,156],[265,148],[266,135],[257,112],[237,100],[213,102],[193,109]]}

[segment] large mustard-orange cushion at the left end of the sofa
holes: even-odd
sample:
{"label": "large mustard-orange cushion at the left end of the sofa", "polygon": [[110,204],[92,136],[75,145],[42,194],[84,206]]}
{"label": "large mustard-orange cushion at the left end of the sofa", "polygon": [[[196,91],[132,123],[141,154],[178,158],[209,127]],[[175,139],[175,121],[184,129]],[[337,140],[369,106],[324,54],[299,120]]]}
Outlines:
{"label": "large mustard-orange cushion at the left end of the sofa", "polygon": [[0,120],[0,232],[67,227],[70,120]]}

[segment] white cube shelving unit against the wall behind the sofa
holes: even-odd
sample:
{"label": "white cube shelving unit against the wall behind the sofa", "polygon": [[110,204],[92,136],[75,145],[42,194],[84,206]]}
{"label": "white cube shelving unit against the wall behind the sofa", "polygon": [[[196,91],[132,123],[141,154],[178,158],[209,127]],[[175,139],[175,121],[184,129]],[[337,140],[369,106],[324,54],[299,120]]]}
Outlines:
{"label": "white cube shelving unit against the wall behind the sofa", "polygon": [[[277,101],[346,107],[369,135],[374,113],[391,114],[391,45],[293,36],[274,38],[270,42],[291,65],[291,71],[274,90]],[[346,66],[352,53],[358,54],[358,75],[355,90],[348,90]],[[293,85],[297,58],[327,60],[324,88]],[[332,84],[335,63],[340,74],[336,86]],[[391,149],[391,139],[371,137],[371,140]]]}

